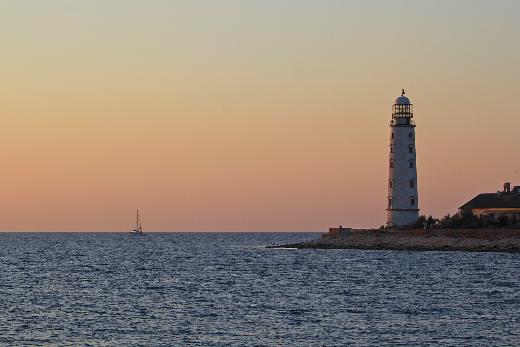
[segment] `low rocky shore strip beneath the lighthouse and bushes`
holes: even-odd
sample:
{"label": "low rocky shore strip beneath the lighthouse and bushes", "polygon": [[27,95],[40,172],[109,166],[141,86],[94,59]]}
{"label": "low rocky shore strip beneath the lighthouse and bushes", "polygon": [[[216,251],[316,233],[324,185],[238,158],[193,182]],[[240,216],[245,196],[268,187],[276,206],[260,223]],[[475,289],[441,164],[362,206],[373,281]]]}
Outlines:
{"label": "low rocky shore strip beneath the lighthouse and bushes", "polygon": [[[331,229],[333,230],[333,229]],[[291,245],[265,248],[328,248],[392,251],[520,252],[520,230],[378,230],[347,229]]]}

